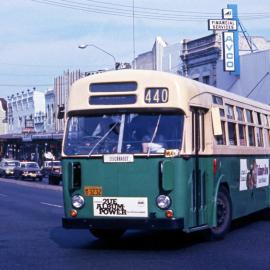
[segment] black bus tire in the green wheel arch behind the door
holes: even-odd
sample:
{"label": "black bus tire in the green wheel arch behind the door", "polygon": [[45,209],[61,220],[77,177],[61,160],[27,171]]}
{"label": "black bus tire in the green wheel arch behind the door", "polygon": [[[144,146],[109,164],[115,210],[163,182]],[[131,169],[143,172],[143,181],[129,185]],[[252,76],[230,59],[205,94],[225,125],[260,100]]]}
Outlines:
{"label": "black bus tire in the green wheel arch behind the door", "polygon": [[212,239],[223,239],[228,232],[232,221],[232,202],[226,188],[218,191],[216,206],[217,226],[211,228]]}

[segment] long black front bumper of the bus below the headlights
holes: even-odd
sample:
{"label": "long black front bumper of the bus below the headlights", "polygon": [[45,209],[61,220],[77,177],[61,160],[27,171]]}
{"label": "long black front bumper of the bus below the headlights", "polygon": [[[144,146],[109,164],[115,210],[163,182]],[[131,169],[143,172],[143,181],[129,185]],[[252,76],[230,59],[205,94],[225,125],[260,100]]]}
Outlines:
{"label": "long black front bumper of the bus below the headlights", "polygon": [[184,219],[86,219],[62,218],[66,229],[153,229],[174,230],[184,228]]}

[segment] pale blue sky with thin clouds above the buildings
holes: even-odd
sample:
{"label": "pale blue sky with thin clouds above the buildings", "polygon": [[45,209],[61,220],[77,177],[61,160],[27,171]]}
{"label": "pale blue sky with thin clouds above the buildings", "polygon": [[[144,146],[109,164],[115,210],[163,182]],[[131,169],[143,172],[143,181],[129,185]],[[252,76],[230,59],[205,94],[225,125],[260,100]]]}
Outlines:
{"label": "pale blue sky with thin clouds above the buildings", "polygon": [[174,44],[211,34],[207,19],[228,3],[249,35],[270,40],[269,0],[0,0],[0,97],[46,91],[66,70],[111,69],[109,54],[130,63],[157,36]]}

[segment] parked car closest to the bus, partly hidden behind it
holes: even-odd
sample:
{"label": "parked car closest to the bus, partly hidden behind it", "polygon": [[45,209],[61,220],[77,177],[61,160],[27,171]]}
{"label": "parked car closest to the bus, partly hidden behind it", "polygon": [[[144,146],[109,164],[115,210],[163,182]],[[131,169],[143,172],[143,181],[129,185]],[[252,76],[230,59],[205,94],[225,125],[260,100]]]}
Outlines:
{"label": "parked car closest to the bus, partly hidden behind it", "polygon": [[48,176],[48,182],[51,185],[59,185],[62,181],[62,166],[61,161],[44,161],[42,168],[42,173],[44,176]]}

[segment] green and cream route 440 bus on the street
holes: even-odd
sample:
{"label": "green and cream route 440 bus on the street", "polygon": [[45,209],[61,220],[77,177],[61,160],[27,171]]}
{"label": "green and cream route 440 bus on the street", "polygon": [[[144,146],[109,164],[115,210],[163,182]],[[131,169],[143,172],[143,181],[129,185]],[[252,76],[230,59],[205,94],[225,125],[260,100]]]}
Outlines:
{"label": "green and cream route 440 bus on the street", "polygon": [[183,78],[119,70],[76,81],[62,149],[65,228],[209,229],[267,209],[270,106]]}

